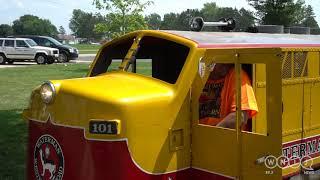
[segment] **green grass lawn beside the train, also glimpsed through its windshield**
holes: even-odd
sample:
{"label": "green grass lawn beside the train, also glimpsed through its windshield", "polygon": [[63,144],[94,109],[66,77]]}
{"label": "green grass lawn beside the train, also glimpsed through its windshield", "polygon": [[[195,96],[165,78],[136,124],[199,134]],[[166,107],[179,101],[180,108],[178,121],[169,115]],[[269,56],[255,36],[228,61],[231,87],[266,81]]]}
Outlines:
{"label": "green grass lawn beside the train, also glimpsed through its windshield", "polygon": [[[116,69],[119,63],[113,63]],[[83,77],[89,64],[30,65],[0,69],[0,180],[25,179],[27,126],[21,113],[31,91],[46,80]],[[137,72],[151,74],[149,62]]]}

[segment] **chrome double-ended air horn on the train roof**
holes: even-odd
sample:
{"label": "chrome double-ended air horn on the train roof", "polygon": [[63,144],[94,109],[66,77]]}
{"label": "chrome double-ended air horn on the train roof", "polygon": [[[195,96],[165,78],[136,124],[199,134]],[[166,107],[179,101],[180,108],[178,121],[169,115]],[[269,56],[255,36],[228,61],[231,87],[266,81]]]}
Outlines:
{"label": "chrome double-ended air horn on the train roof", "polygon": [[222,18],[218,22],[205,22],[202,17],[194,17],[190,23],[191,31],[201,31],[203,27],[218,27],[221,31],[228,32],[236,27],[233,18]]}

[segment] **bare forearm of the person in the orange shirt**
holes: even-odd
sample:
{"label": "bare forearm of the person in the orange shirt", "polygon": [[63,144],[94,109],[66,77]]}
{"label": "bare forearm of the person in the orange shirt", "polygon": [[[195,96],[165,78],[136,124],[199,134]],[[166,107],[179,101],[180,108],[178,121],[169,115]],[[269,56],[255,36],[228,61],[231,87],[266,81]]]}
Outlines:
{"label": "bare forearm of the person in the orange shirt", "polygon": [[[241,116],[242,116],[241,124],[247,123],[247,120],[248,120],[247,112],[246,111],[242,111]],[[236,112],[232,112],[232,113],[228,114],[221,122],[219,122],[217,124],[217,127],[235,129],[235,127],[236,127],[236,119],[237,119]]]}

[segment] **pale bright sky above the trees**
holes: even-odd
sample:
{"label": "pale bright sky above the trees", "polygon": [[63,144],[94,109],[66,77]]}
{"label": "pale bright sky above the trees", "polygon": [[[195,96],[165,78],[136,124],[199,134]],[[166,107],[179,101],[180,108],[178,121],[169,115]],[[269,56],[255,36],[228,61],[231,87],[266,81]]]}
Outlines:
{"label": "pale bright sky above the trees", "polygon": [[[311,5],[316,14],[316,20],[320,23],[320,1],[305,0]],[[145,14],[158,13],[163,16],[169,12],[181,12],[186,9],[201,9],[206,2],[216,2],[220,7],[236,7],[253,10],[246,0],[153,0]],[[24,14],[32,14],[40,18],[49,19],[59,28],[63,26],[69,30],[69,20],[73,9],[82,9],[87,12],[95,12],[92,0],[0,0],[0,24],[12,24],[12,22]]]}

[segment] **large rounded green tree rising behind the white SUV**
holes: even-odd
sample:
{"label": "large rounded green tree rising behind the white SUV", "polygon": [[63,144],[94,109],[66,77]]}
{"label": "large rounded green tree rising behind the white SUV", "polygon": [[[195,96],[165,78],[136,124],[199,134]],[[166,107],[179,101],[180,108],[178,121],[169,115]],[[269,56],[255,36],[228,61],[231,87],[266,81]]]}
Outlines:
{"label": "large rounded green tree rising behind the white SUV", "polygon": [[13,21],[13,32],[16,35],[43,35],[55,37],[57,28],[47,19],[40,19],[33,15],[24,15]]}

